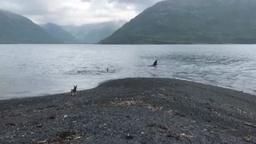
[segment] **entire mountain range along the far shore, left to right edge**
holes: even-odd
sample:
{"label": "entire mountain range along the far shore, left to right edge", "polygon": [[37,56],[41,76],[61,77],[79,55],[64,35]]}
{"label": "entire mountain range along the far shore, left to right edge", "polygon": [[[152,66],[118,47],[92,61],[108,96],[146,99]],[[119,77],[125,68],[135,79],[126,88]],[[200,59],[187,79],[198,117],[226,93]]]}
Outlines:
{"label": "entire mountain range along the far shore, left to right edge", "polygon": [[38,26],[0,10],[0,43],[256,43],[255,7],[255,0],[166,0],[130,22],[82,26]]}

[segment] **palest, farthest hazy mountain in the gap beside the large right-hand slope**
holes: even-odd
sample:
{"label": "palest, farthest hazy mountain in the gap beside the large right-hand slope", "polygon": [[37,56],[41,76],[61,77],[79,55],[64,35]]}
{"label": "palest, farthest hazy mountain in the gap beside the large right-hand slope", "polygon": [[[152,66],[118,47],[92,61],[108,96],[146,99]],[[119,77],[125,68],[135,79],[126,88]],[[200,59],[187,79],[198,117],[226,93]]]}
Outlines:
{"label": "palest, farthest hazy mountain in the gap beside the large right-hand slope", "polygon": [[110,21],[94,24],[85,24],[82,26],[62,26],[62,28],[70,34],[73,34],[79,42],[82,43],[98,43],[102,39],[107,38],[123,26],[126,21]]}

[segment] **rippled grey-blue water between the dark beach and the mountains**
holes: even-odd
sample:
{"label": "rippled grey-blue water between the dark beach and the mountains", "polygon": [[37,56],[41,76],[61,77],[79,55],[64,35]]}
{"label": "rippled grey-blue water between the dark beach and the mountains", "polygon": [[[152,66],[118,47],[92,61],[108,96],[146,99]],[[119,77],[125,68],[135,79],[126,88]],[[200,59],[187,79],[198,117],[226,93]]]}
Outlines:
{"label": "rippled grey-blue water between the dark beach and the mountains", "polygon": [[[156,59],[158,67],[148,67]],[[0,45],[0,99],[134,77],[179,78],[256,94],[256,45]]]}

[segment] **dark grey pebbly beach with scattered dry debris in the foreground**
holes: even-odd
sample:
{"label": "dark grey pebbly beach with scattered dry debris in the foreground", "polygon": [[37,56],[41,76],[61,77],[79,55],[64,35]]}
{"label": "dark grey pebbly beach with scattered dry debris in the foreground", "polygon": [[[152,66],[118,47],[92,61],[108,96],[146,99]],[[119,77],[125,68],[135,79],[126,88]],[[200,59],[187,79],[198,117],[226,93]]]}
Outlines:
{"label": "dark grey pebbly beach with scattered dry debris in the foreground", "polygon": [[0,143],[256,143],[256,96],[168,78],[0,106]]}

